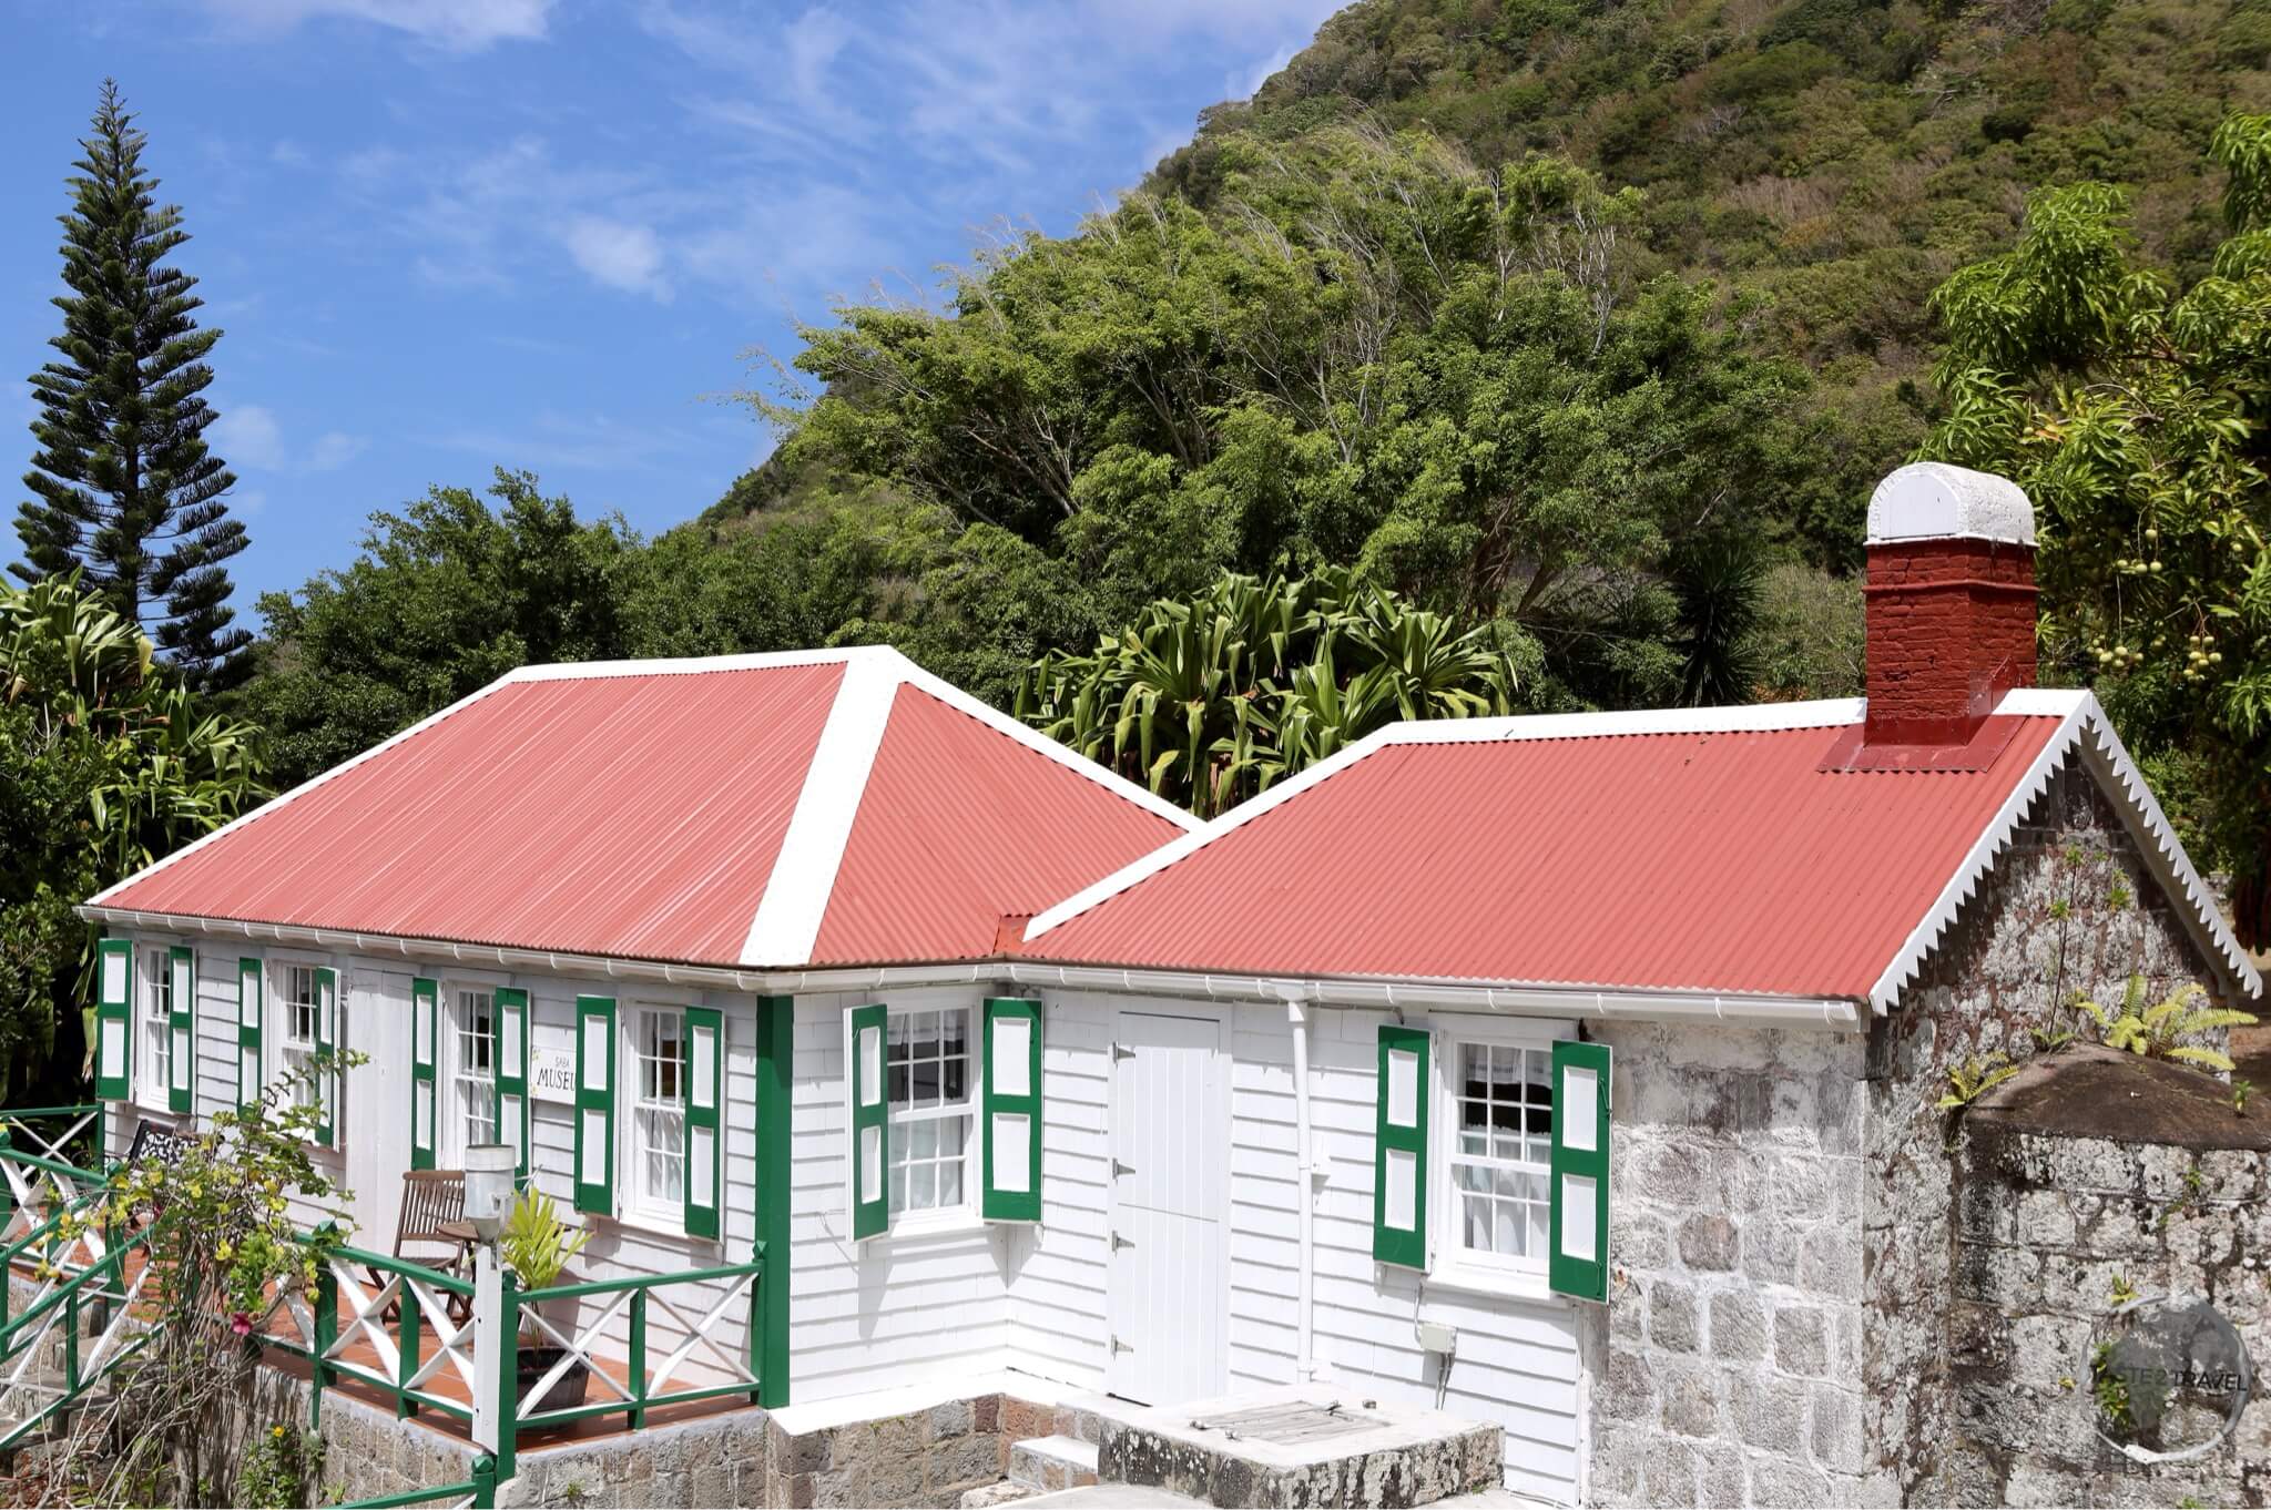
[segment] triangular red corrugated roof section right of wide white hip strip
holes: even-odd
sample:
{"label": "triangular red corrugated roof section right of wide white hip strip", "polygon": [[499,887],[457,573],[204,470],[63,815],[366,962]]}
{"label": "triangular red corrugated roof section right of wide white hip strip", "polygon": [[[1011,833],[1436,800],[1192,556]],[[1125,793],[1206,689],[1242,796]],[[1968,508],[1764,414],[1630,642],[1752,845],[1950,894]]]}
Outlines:
{"label": "triangular red corrugated roof section right of wide white hip strip", "polygon": [[1004,913],[1038,913],[1181,833],[902,683],[813,963],[997,954]]}

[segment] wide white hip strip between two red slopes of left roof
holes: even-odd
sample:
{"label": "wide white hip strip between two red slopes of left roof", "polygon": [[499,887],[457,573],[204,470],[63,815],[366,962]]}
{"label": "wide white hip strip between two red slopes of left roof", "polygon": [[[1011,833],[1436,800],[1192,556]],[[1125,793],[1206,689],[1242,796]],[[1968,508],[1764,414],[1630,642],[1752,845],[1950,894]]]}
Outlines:
{"label": "wide white hip strip between two red slopes of left roof", "polygon": [[749,936],[740,945],[743,965],[797,965],[813,958],[813,940],[820,938],[820,920],[836,895],[836,872],[868,790],[868,772],[874,770],[874,752],[883,747],[890,704],[899,695],[895,672],[881,656],[845,665],[829,722],[804,767],[797,811],[788,817],[781,852],[765,876],[765,895],[749,917]]}

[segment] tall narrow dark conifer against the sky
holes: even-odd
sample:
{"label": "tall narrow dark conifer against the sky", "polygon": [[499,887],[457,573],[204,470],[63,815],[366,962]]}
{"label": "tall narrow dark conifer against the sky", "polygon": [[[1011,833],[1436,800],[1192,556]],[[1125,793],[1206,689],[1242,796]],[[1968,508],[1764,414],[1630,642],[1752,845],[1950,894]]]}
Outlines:
{"label": "tall narrow dark conifer against the sky", "polygon": [[102,86],[93,134],[70,179],[59,352],[32,375],[39,450],[16,534],[25,581],[84,572],[125,620],[141,624],[175,670],[204,690],[252,670],[252,636],[232,627],[223,561],[245,527],[223,497],[236,477],[204,443],[218,418],[204,402],[218,329],[198,329],[198,279],[168,268],[188,232],[157,204],[141,166],[145,139]]}

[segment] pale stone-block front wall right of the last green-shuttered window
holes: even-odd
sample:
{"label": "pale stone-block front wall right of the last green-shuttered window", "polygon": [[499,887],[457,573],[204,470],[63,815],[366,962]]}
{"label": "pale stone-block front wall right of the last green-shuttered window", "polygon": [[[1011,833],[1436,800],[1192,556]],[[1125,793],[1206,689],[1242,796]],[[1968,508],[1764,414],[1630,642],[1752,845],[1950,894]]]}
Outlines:
{"label": "pale stone-block front wall right of the last green-shuttered window", "polygon": [[1862,1040],[1612,1022],[1592,1501],[1821,1505],[1862,1469]]}

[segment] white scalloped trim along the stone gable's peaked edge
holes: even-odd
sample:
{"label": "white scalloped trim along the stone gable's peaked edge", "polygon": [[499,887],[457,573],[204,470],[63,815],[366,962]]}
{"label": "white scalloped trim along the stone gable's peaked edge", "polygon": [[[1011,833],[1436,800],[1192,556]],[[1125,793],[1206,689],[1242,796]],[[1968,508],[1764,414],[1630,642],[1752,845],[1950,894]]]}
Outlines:
{"label": "white scalloped trim along the stone gable's peaked edge", "polygon": [[[2055,699],[2055,702],[2053,702]],[[1978,892],[1987,872],[1994,867],[1996,858],[2010,845],[2012,833],[2026,820],[2028,808],[2042,797],[2044,788],[2051,783],[2051,774],[2067,761],[2076,749],[2083,752],[2092,767],[2098,786],[2114,797],[2114,808],[2121,813],[2130,829],[2130,838],[2137,840],[2137,852],[2144,856],[2146,867],[2153,879],[2160,881],[2162,890],[2182,901],[2185,926],[2194,936],[2194,942],[2207,954],[2207,958],[2219,960],[2230,974],[2232,983],[2244,997],[2262,995],[2262,976],[2255,974],[2255,965],[2248,963],[2246,951],[2232,936],[2230,924],[2216,908],[2214,895],[2207,883],[2201,881],[2201,872],[2194,870],[2192,856],[2178,842],[2176,831],[2169,827],[2167,815],[2160,811],[2160,802],[2153,799],[2151,788],[2144,783],[2144,774],[2137,763],[2130,761],[2128,749],[2121,747],[2121,736],[2114,733],[2112,722],[2105,718],[2105,708],[2092,693],[2010,693],[1996,706],[1996,713],[2053,713],[2055,704],[2064,704],[2064,722],[2044,743],[2042,752],[2035,756],[2033,765],[2012,788],[2010,797],[1987,822],[1978,842],[1964,856],[1964,863],[1949,876],[1946,888],[1942,888],[1939,899],[1933,901],[1924,920],[1910,931],[1901,951],[1892,956],[1885,974],[1878,976],[1876,985],[1869,990],[1869,1004],[1878,1013],[1892,1010],[1908,983],[1917,979],[1924,960],[1939,947],[1939,938],[1955,922],[1962,906]]]}

